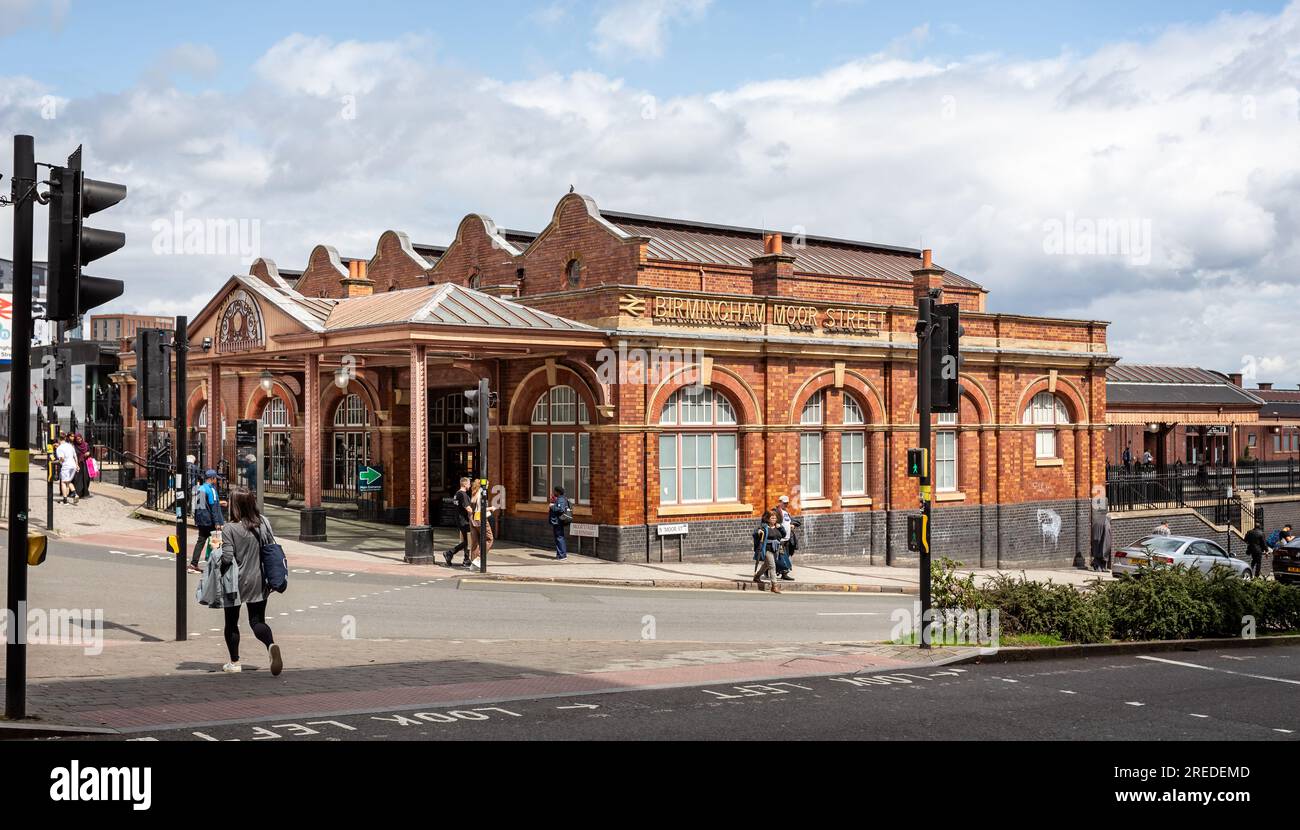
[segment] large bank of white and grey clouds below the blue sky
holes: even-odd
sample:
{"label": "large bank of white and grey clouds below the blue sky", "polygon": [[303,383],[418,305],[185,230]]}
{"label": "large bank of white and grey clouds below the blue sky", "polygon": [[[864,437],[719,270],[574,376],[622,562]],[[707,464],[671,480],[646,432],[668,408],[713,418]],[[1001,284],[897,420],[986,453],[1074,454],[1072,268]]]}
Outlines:
{"label": "large bank of white and grey clouds below the blue sky", "polygon": [[[387,228],[446,243],[468,212],[540,229],[573,183],[608,208],[923,242],[988,286],[992,311],[1112,320],[1126,359],[1235,371],[1252,355],[1260,380],[1300,382],[1283,346],[1300,5],[1048,60],[923,49],[655,99],[594,72],[468,74],[413,38],[294,35],[244,90],[142,83],[55,120],[42,100],[58,88],[31,68],[0,75],[0,134],[38,135],[42,160],[84,142],[92,174],[130,185],[103,220],[127,248],[96,264],[127,280],[124,310],[194,314],[247,267],[153,255],[152,222],[177,209],[256,220],[261,252],[300,268],[320,242],[368,255]],[[1067,217],[1145,222],[1149,256],[1048,252]]]}

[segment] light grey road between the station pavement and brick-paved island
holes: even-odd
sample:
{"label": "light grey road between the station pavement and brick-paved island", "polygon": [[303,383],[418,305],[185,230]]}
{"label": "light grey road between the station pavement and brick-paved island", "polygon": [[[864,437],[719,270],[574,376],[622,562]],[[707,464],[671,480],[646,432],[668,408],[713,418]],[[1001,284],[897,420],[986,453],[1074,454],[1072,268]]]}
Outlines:
{"label": "light grey road between the station pavement and brick-paved island", "polygon": [[[109,639],[170,640],[176,623],[174,559],[161,552],[114,550],[52,541],[29,569],[30,608],[103,609]],[[889,639],[890,613],[911,608],[898,595],[664,591],[493,583],[464,571],[421,569],[419,576],[294,569],[273,596],[277,634],[359,639],[486,637],[822,643]],[[4,589],[0,569],[0,589]],[[220,636],[220,614],[186,593],[191,637]]]}

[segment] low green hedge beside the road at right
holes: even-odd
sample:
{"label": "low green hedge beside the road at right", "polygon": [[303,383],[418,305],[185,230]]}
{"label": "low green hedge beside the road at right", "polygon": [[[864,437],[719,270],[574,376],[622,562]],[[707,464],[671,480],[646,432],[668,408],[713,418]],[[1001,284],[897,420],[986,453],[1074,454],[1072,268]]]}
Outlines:
{"label": "low green hedge beside the road at right", "polygon": [[945,558],[932,566],[935,608],[997,609],[1005,636],[1053,635],[1071,643],[1242,636],[1247,617],[1254,618],[1256,634],[1300,630],[1300,587],[1225,570],[1206,576],[1160,567],[1079,591],[1009,574],[976,587],[974,576],[957,574],[959,565]]}

